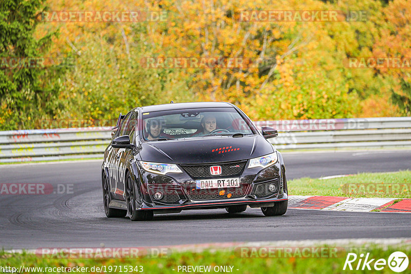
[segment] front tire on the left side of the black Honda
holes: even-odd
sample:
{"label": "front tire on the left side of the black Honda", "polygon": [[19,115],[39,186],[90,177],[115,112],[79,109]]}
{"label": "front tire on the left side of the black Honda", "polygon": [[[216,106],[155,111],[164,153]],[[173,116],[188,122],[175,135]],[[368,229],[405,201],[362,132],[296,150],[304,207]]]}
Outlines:
{"label": "front tire on the left side of the black Honda", "polygon": [[138,210],[136,209],[136,190],[137,186],[133,182],[130,173],[127,174],[125,185],[125,202],[127,204],[127,213],[132,221],[150,221],[153,220],[153,210]]}

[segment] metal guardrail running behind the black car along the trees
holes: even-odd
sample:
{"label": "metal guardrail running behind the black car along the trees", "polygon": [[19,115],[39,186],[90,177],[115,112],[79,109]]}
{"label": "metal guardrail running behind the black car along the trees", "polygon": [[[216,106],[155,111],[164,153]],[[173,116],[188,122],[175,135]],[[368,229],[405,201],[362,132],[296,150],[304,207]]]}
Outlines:
{"label": "metal guardrail running behind the black car along the trees", "polygon": [[[411,117],[257,121],[279,150],[411,147]],[[0,131],[0,162],[102,158],[110,127]]]}

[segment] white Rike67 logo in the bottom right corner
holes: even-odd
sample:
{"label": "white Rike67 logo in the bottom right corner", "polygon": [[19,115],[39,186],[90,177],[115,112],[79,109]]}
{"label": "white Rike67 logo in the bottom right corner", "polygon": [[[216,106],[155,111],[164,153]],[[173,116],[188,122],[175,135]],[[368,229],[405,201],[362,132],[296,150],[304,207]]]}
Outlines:
{"label": "white Rike67 logo in the bottom right corner", "polygon": [[376,259],[370,259],[369,253],[367,253],[365,257],[364,253],[361,253],[360,256],[357,256],[356,253],[348,253],[343,270],[371,270],[372,268],[375,270],[382,270],[386,265],[388,265],[391,270],[395,272],[402,272],[407,269],[408,263],[407,255],[401,251],[391,253],[388,257],[388,261],[385,259],[378,259],[377,261]]}

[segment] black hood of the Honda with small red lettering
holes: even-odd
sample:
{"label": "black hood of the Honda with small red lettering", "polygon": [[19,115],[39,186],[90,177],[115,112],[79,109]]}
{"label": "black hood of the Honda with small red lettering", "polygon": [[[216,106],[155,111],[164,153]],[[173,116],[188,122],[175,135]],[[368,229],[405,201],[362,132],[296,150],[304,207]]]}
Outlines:
{"label": "black hood of the Honda with small red lettering", "polygon": [[143,161],[176,164],[238,161],[274,151],[274,147],[261,135],[154,141],[142,143],[141,147]]}

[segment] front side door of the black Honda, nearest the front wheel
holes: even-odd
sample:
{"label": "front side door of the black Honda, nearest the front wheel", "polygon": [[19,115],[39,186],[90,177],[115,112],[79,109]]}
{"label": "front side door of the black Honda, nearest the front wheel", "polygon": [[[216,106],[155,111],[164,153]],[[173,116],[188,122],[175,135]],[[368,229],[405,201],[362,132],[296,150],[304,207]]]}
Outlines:
{"label": "front side door of the black Honda, nearest the front wheel", "polygon": [[[130,119],[127,121],[126,126],[124,127],[124,132],[121,133],[121,135],[128,135],[130,138],[130,144],[134,144],[135,142],[135,134],[136,134],[136,115],[132,113],[130,115]],[[121,149],[119,151],[120,153],[120,159],[119,159],[119,165],[118,165],[118,182],[117,182],[117,192],[118,195],[121,197],[118,197],[120,200],[125,201],[125,169],[127,165],[127,161],[130,157],[130,154],[133,153],[132,149]]]}

